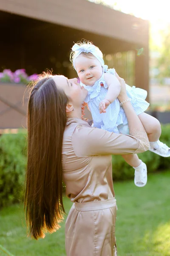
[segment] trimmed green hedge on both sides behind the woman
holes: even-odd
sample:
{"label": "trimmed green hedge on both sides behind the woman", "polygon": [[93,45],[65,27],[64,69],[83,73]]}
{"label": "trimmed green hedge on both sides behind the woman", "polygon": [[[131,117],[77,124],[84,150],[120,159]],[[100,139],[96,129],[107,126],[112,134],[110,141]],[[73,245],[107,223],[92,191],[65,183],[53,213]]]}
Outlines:
{"label": "trimmed green hedge on both sides behind the woman", "polygon": [[[170,146],[170,125],[162,125],[161,141]],[[26,132],[0,136],[0,207],[23,198],[26,172]],[[164,158],[150,151],[139,154],[147,165],[148,173],[169,169],[170,157]],[[113,180],[134,177],[134,170],[121,156],[113,155]]]}

